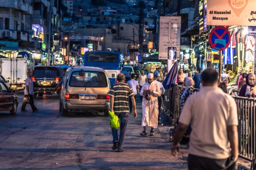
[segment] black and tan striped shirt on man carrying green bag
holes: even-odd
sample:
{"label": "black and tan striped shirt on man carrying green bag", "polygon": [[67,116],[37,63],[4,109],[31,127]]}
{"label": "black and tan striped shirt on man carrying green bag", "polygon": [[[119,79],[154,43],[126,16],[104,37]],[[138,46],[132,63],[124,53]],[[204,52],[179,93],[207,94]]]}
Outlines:
{"label": "black and tan striped shirt on man carrying green bag", "polygon": [[128,84],[114,84],[108,95],[114,97],[114,112],[129,112],[129,97],[133,97],[134,93]]}

